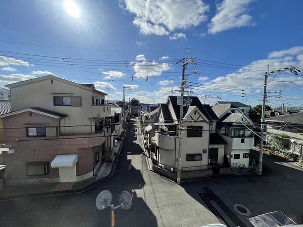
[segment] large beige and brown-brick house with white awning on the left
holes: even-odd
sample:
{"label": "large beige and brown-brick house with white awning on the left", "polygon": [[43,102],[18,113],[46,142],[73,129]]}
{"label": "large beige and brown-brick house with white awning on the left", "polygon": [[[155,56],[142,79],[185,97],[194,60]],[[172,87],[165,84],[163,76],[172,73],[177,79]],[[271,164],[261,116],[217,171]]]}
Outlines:
{"label": "large beige and brown-brick house with white awning on the left", "polygon": [[11,112],[0,115],[7,184],[72,182],[113,160],[115,137],[105,93],[48,75],[6,85]]}

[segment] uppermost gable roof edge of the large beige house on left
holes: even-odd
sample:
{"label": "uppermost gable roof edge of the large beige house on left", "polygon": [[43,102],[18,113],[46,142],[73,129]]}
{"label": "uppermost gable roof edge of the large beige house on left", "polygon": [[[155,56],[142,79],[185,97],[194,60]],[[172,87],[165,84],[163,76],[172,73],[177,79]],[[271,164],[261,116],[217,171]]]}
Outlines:
{"label": "uppermost gable roof edge of the large beige house on left", "polygon": [[92,84],[79,84],[79,83],[75,83],[75,82],[72,82],[70,80],[65,80],[63,78],[60,78],[60,77],[56,77],[56,76],[53,76],[53,75],[47,75],[47,76],[42,76],[42,77],[36,77],[36,78],[33,78],[33,79],[29,79],[29,80],[24,80],[24,81],[20,81],[20,82],[16,82],[16,83],[12,83],[12,84],[7,84],[5,85],[6,87],[9,87],[9,88],[12,88],[12,87],[17,87],[17,86],[21,86],[21,85],[24,85],[24,84],[30,84],[30,83],[33,83],[33,82],[37,82],[37,81],[43,81],[43,80],[48,80],[48,79],[54,79],[54,80],[59,80],[63,83],[68,83],[68,84],[72,84],[74,86],[78,86],[78,87],[81,87],[81,88],[85,88],[87,90],[93,90],[95,92],[98,92],[98,93],[101,93],[101,94],[106,94],[102,91],[99,91],[97,89],[95,89],[95,86],[93,85],[93,87],[91,86]]}

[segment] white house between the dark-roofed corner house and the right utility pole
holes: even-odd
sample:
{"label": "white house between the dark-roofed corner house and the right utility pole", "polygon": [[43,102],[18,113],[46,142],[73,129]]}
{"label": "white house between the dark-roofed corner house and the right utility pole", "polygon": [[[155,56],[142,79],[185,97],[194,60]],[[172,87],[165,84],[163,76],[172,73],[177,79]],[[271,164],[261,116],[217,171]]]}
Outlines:
{"label": "white house between the dark-roofed corner house and the right utility pole", "polygon": [[217,133],[226,141],[224,157],[231,166],[249,166],[249,151],[254,137],[247,125],[252,121],[239,108],[231,104],[216,104],[212,110],[218,117]]}

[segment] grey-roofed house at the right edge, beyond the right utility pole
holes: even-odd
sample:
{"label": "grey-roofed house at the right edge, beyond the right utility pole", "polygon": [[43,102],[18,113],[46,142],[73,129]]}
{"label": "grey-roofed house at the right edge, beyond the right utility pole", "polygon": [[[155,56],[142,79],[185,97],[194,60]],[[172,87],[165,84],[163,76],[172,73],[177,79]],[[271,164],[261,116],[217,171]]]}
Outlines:
{"label": "grey-roofed house at the right edge, beyond the right utility pole", "polygon": [[279,115],[265,119],[267,140],[275,150],[283,150],[302,162],[303,112]]}

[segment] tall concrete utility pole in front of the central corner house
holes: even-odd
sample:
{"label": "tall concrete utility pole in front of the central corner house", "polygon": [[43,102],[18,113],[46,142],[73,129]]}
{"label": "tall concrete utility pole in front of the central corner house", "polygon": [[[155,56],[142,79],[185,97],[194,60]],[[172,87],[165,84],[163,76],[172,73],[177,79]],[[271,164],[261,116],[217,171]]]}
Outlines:
{"label": "tall concrete utility pole in front of the central corner house", "polygon": [[191,59],[191,60],[187,60],[187,54],[188,52],[190,52],[192,49],[189,49],[186,52],[186,58],[185,58],[185,62],[182,63],[182,80],[181,80],[181,96],[179,97],[180,101],[179,101],[179,105],[180,105],[180,119],[179,119],[179,148],[178,148],[178,169],[177,169],[177,184],[181,183],[181,136],[182,133],[181,132],[181,128],[183,126],[183,104],[184,104],[184,100],[183,100],[183,96],[184,96],[184,90],[185,90],[185,86],[186,86],[186,80],[185,80],[185,69],[187,64],[193,63],[195,61],[195,59]]}

